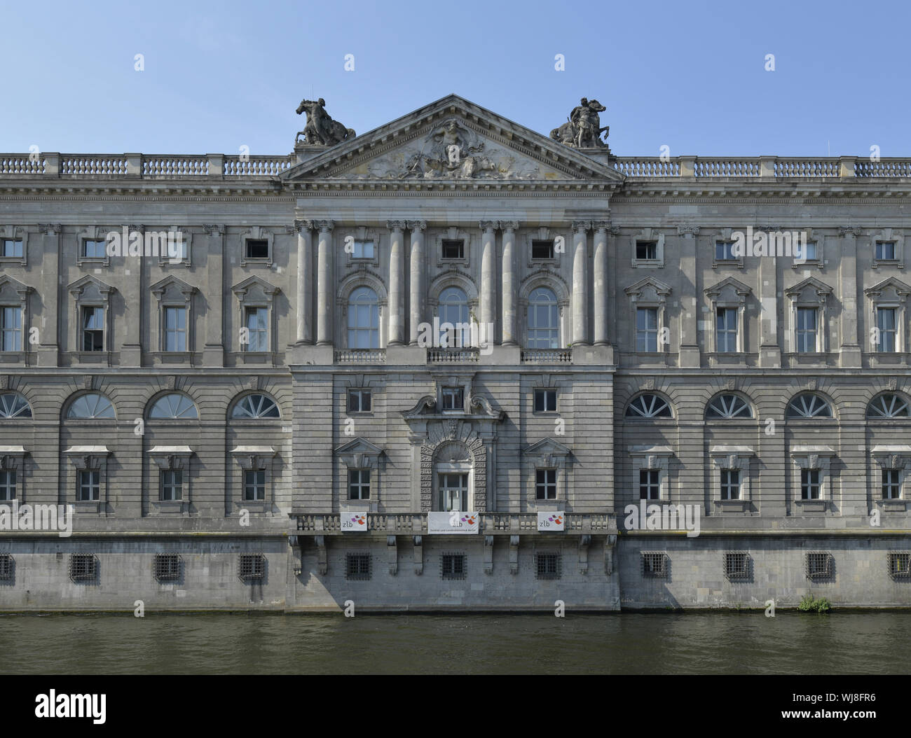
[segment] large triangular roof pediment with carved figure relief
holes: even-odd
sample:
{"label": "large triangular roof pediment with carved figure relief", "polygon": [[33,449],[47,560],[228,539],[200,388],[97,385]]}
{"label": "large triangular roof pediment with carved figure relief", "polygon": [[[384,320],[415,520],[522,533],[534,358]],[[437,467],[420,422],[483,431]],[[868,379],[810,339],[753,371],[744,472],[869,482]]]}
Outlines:
{"label": "large triangular roof pediment with carved figure relief", "polygon": [[295,181],[592,182],[623,175],[606,161],[457,95],[343,141],[280,175]]}

